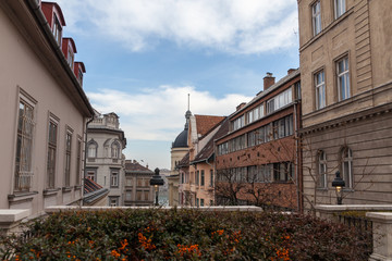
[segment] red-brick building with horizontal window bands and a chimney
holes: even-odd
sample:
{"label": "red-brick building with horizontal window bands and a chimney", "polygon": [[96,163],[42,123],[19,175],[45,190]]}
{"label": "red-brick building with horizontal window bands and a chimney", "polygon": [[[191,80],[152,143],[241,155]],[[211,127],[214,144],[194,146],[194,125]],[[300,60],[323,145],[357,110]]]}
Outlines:
{"label": "red-brick building with horizontal window bands and a chimney", "polygon": [[256,204],[301,210],[299,70],[274,83],[229,116],[229,133],[216,140],[217,204]]}

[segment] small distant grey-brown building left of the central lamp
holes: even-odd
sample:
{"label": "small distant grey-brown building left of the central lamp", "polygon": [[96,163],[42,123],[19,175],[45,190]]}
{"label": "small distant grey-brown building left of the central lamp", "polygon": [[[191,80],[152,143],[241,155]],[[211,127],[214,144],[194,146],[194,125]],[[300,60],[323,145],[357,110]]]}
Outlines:
{"label": "small distant grey-brown building left of the central lamp", "polygon": [[154,172],[137,161],[125,161],[124,206],[143,207],[154,204],[154,190],[150,179]]}

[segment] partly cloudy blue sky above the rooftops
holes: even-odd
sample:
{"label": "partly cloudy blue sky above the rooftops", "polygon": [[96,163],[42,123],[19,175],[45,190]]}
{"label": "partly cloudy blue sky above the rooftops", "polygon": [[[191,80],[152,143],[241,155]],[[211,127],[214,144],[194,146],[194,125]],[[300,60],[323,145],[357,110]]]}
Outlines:
{"label": "partly cloudy blue sky above the rooftops", "polygon": [[230,115],[299,66],[296,0],[57,0],[86,66],[84,90],[115,112],[127,160],[170,169],[193,114]]}

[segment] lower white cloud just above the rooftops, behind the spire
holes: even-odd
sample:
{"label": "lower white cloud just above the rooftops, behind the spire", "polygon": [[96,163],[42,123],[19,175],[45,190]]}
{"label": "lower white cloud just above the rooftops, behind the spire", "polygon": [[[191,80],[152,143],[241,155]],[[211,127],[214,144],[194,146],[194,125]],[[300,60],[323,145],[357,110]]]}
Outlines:
{"label": "lower white cloud just above the rooftops, behind the spire", "polygon": [[194,114],[229,115],[252,97],[226,95],[215,98],[192,86],[161,86],[130,94],[111,89],[87,92],[93,107],[101,113],[115,112],[127,139],[173,141],[185,124],[187,95]]}

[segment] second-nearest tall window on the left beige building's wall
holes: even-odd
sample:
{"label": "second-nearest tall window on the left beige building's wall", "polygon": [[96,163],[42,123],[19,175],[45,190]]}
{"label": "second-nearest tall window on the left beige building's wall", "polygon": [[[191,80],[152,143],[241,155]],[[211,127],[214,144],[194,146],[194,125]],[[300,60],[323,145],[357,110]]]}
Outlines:
{"label": "second-nearest tall window on the left beige building's wall", "polygon": [[49,120],[47,188],[54,188],[58,124]]}

